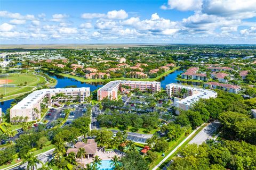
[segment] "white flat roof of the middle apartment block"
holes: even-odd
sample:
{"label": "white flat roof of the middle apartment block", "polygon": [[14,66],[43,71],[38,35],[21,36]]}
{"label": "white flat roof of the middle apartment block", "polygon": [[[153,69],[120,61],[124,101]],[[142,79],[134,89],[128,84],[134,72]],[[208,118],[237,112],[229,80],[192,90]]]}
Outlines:
{"label": "white flat roof of the middle apartment block", "polygon": [[108,82],[105,86],[101,87],[99,90],[104,90],[104,91],[111,91],[114,88],[116,88],[119,84],[122,83],[135,83],[135,84],[159,84],[160,82],[158,81],[126,81],[126,80],[116,80],[116,81],[110,81]]}

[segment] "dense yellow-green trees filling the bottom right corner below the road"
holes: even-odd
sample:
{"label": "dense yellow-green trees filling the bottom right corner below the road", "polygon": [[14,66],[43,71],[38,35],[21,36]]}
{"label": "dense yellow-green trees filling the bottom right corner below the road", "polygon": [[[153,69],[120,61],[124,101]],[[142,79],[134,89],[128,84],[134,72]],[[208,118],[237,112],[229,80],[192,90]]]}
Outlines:
{"label": "dense yellow-green trees filling the bottom right corner below the road", "polygon": [[178,152],[179,157],[169,169],[255,169],[256,146],[238,141],[209,141],[197,146],[188,145]]}

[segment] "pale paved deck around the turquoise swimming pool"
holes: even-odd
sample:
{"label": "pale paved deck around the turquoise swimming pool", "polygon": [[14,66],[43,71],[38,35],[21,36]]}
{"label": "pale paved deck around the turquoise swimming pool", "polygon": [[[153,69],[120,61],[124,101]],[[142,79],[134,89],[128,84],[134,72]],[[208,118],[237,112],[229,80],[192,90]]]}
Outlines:
{"label": "pale paved deck around the turquoise swimming pool", "polygon": [[[102,160],[110,160],[115,155],[117,155],[118,157],[122,157],[122,154],[116,154],[115,151],[113,151],[113,152],[112,151],[111,152],[107,151],[107,152],[104,153],[101,150],[98,151],[98,149],[97,149],[95,155],[98,155]],[[86,164],[90,164],[90,163],[93,162],[93,157],[90,157],[89,159],[88,158],[83,158],[82,162],[81,162],[80,158],[77,158],[76,161],[77,161],[77,163],[82,164],[84,167],[86,167]]]}

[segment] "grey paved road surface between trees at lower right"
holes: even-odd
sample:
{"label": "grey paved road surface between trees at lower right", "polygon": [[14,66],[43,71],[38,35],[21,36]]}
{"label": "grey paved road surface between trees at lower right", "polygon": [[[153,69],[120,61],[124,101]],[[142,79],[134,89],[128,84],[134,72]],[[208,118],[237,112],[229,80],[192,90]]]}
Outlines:
{"label": "grey paved road surface between trees at lower right", "polygon": [[190,142],[189,144],[196,143],[201,145],[207,139],[213,139],[212,135],[215,133],[220,126],[219,122],[212,122],[207,125],[202,131],[200,131]]}

